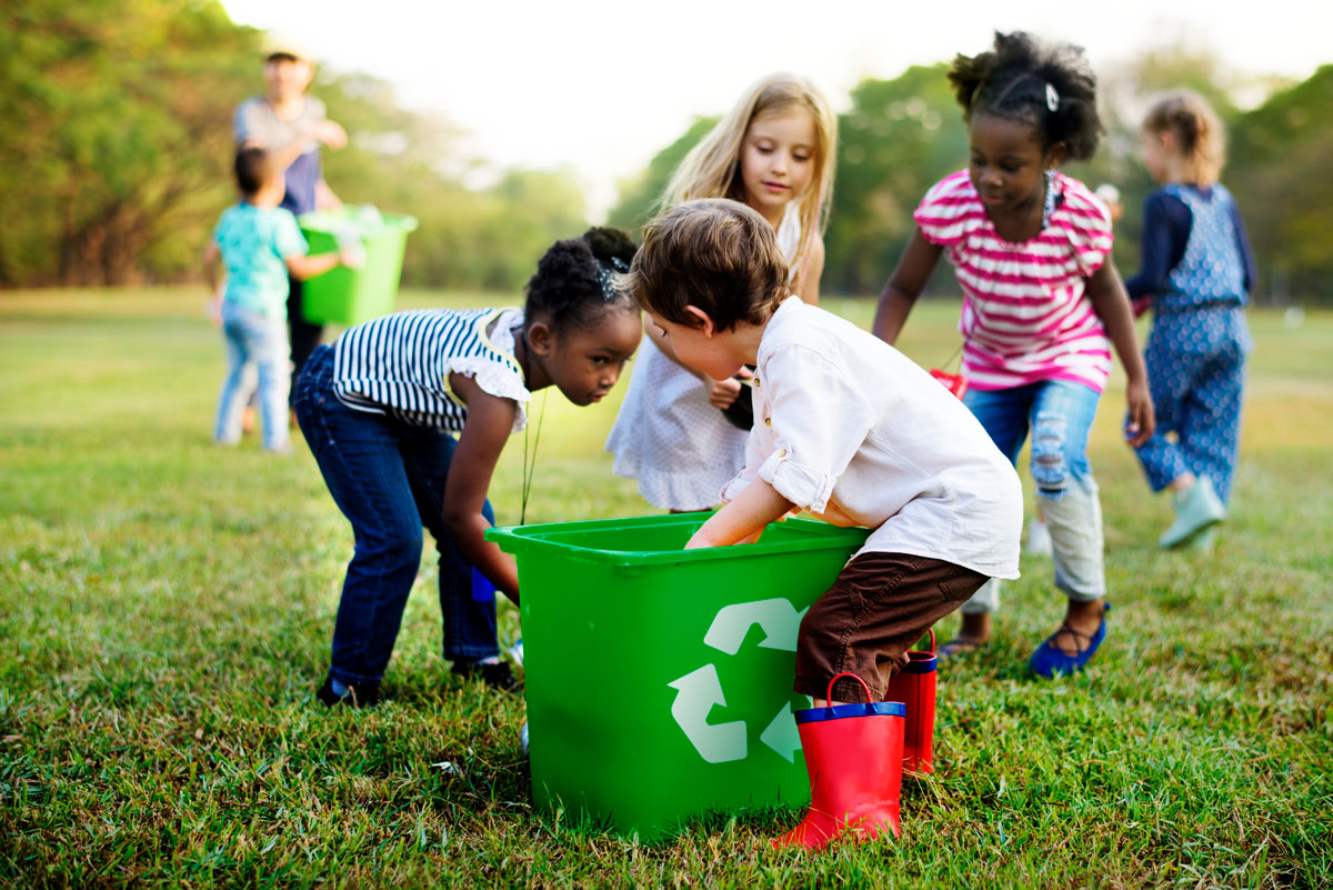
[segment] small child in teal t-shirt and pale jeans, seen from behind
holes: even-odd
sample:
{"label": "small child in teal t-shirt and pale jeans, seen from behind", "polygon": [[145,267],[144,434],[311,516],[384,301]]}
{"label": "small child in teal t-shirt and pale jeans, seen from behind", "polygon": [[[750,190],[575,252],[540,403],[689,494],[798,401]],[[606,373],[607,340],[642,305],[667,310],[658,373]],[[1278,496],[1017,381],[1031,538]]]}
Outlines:
{"label": "small child in teal t-shirt and pale jeans, seen from behind", "polygon": [[236,183],[241,201],[223,212],[213,240],[204,253],[208,282],[219,290],[219,258],[227,266],[221,297],[221,326],[227,340],[228,372],[217,404],[213,441],[235,445],[241,437],[245,406],[245,369],[259,370],[259,402],[264,422],[264,449],[291,450],[287,424],[288,276],[311,278],[329,269],[352,265],[349,256],[305,256],[309,245],[292,212],[279,207],[287,188],[283,172],[273,168],[261,148],[236,155]]}

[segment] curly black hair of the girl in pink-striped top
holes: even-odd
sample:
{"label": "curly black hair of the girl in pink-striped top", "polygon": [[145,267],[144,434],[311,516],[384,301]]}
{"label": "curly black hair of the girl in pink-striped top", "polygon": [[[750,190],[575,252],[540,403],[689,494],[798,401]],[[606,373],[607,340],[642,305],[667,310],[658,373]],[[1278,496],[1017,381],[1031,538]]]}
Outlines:
{"label": "curly black hair of the girl in pink-striped top", "polygon": [[1065,156],[1076,161],[1097,152],[1097,76],[1082,47],[997,31],[994,49],[953,60],[949,83],[966,121],[993,115],[1030,124],[1041,133],[1042,149],[1064,143]]}

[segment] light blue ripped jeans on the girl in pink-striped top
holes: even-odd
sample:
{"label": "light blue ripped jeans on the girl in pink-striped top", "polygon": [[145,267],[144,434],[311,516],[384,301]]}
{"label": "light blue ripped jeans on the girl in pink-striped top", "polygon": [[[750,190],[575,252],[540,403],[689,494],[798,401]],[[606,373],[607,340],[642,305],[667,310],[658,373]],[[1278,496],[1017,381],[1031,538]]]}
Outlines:
{"label": "light blue ripped jeans on the girl in pink-striped top", "polygon": [[[1056,586],[1080,602],[1106,593],[1101,501],[1088,462],[1088,430],[1100,398],[1092,388],[1068,380],[969,389],[962,398],[1014,465],[1032,432],[1032,481],[1050,529]],[[1000,581],[992,578],[962,604],[962,613],[994,612],[998,606]]]}

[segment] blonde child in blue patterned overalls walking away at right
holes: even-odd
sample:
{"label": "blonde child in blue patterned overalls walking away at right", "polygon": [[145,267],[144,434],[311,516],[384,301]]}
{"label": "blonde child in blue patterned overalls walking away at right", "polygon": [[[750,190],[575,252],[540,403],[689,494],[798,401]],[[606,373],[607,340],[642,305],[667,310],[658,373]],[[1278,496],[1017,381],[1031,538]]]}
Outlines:
{"label": "blonde child in blue patterned overalls walking away at right", "polygon": [[1137,454],[1152,489],[1174,494],[1176,521],[1158,544],[1208,548],[1236,468],[1254,257],[1217,181],[1224,133],[1208,103],[1188,91],[1162,96],[1142,137],[1161,188],[1144,204],[1141,268],[1125,288],[1136,309],[1153,309],[1145,358],[1157,433]]}

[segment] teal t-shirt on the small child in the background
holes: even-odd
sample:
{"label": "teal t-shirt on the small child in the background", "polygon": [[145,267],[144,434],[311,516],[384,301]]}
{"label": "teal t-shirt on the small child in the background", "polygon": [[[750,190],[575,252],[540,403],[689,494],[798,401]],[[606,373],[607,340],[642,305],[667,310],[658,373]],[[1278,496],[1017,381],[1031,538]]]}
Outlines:
{"label": "teal t-shirt on the small child in the background", "polygon": [[287,317],[287,257],[309,250],[287,208],[244,201],[223,212],[213,241],[227,264],[225,300],[265,316]]}

